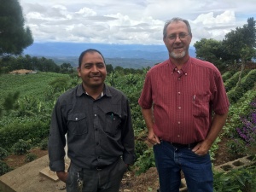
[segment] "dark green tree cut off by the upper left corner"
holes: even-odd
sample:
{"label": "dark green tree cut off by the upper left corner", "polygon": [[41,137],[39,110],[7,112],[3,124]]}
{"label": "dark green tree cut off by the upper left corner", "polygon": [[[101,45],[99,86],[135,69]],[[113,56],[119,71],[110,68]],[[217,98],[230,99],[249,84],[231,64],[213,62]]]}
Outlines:
{"label": "dark green tree cut off by the upper left corner", "polygon": [[18,0],[0,0],[0,56],[20,55],[33,43]]}

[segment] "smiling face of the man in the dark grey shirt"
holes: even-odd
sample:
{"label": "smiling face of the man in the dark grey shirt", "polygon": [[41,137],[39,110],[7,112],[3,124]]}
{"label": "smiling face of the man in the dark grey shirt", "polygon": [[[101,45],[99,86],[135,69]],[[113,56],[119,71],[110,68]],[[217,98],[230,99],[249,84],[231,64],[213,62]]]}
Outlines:
{"label": "smiling face of the man in the dark grey shirt", "polygon": [[84,88],[97,89],[102,87],[107,76],[107,70],[102,58],[97,52],[88,52],[83,56],[78,68],[79,77],[83,80]]}

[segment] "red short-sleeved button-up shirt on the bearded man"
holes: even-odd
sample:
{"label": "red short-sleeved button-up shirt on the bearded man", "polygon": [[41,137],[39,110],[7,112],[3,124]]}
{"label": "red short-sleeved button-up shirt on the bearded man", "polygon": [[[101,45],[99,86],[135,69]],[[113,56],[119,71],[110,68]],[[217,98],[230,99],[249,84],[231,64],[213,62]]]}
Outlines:
{"label": "red short-sleeved button-up shirt on the bearded man", "polygon": [[153,105],[156,136],[183,144],[204,140],[212,111],[227,113],[230,105],[217,67],[191,57],[179,71],[170,60],[152,67],[138,103]]}

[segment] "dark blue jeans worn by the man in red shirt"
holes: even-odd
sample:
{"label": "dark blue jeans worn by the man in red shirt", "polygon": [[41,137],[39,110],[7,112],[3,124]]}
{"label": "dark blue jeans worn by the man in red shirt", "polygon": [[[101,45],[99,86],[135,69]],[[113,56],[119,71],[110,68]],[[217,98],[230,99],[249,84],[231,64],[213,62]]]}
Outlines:
{"label": "dark blue jeans worn by the man in red shirt", "polygon": [[189,192],[212,192],[213,175],[210,155],[199,156],[189,148],[175,148],[161,141],[154,145],[155,165],[160,192],[178,192],[183,171]]}

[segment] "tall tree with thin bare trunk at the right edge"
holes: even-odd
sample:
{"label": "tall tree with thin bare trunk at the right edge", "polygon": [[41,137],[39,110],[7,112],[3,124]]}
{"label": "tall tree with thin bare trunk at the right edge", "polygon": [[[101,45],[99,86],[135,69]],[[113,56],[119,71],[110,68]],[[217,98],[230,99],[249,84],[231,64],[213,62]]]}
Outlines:
{"label": "tall tree with thin bare trunk at the right edge", "polygon": [[227,33],[223,46],[227,54],[233,55],[236,61],[241,61],[241,72],[237,82],[237,85],[240,85],[246,61],[251,61],[256,55],[256,28],[253,17],[248,18],[247,24],[243,27],[236,27],[236,30]]}

